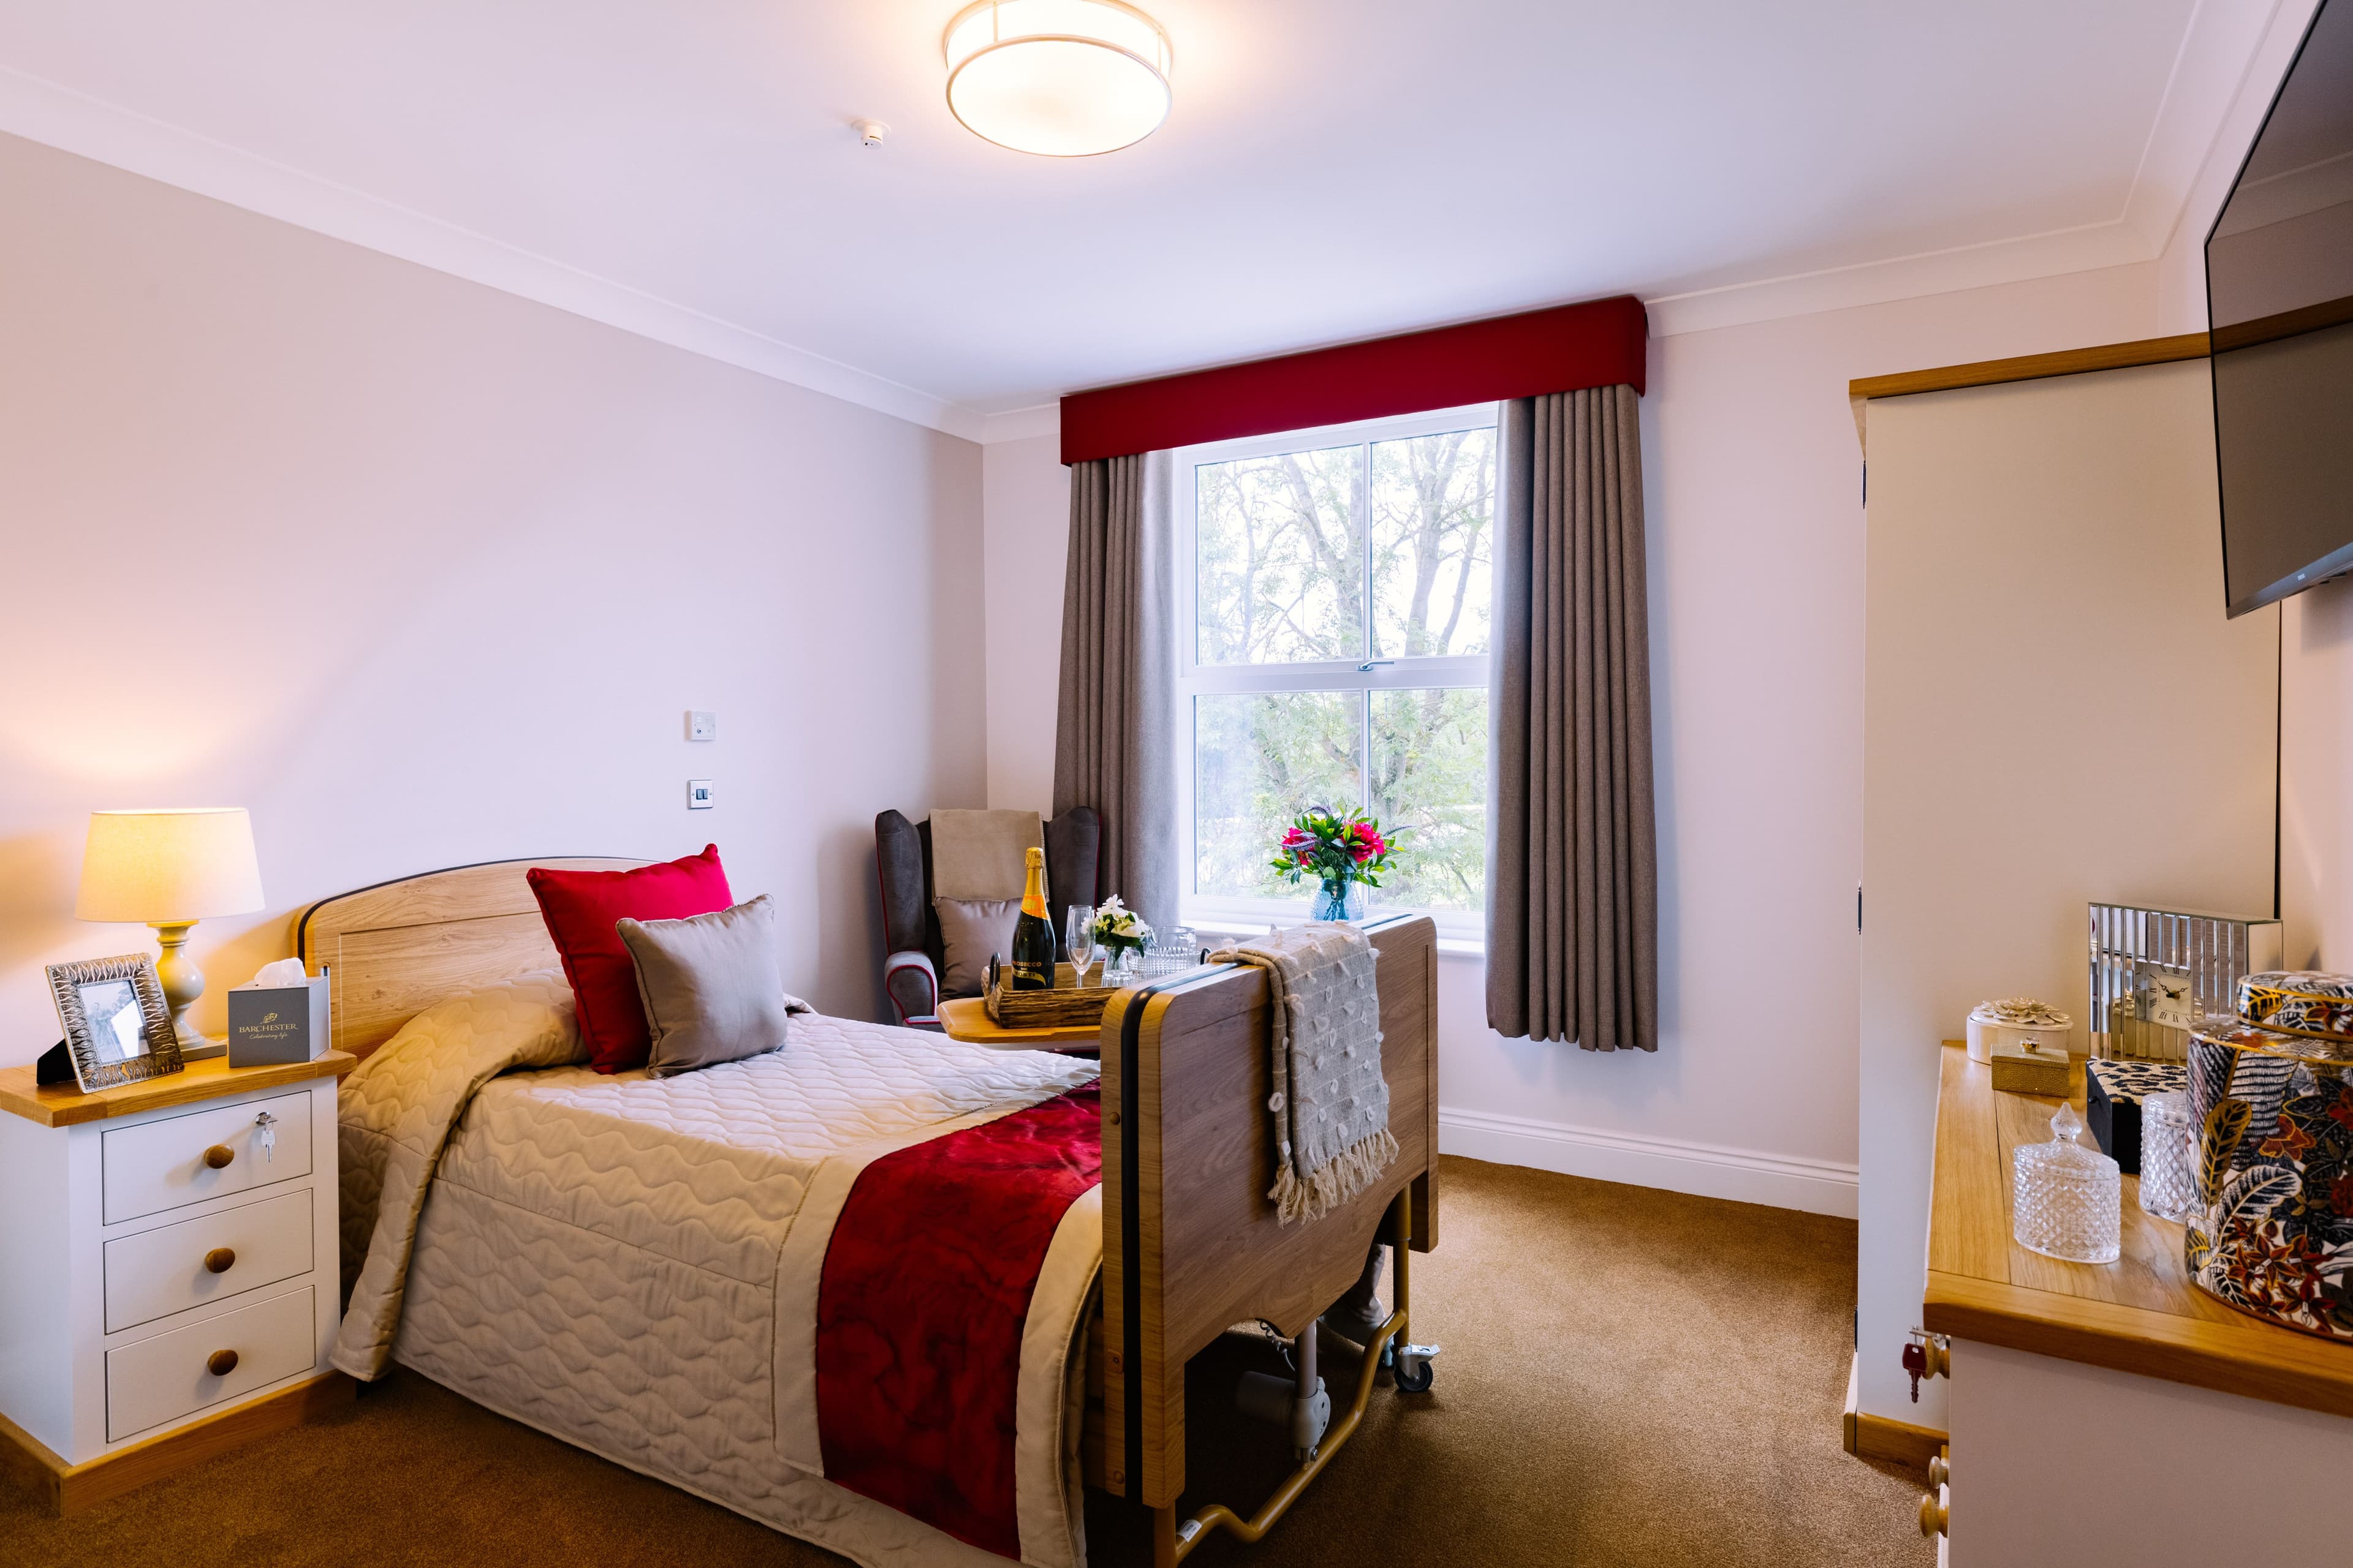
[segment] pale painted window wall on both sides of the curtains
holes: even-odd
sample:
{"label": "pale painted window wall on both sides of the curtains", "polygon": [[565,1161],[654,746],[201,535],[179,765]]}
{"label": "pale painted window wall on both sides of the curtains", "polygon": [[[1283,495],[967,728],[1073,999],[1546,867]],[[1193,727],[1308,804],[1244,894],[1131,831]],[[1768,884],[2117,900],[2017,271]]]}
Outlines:
{"label": "pale painted window wall on both sides of the curtains", "polygon": [[[1447,957],[1445,1147],[1857,1211],[1871,1112],[1857,1100],[1864,508],[1847,381],[2153,331],[2155,268],[2137,266],[1652,341],[1661,1048],[1501,1039],[1480,959]],[[1024,658],[1049,656],[1059,473],[1052,440],[988,449],[993,656],[1007,621],[1035,632]],[[1040,588],[1024,599],[1026,583]],[[1052,755],[1052,682],[993,663],[988,733],[993,804],[1028,804],[1000,795],[1038,788],[1000,757]]]}

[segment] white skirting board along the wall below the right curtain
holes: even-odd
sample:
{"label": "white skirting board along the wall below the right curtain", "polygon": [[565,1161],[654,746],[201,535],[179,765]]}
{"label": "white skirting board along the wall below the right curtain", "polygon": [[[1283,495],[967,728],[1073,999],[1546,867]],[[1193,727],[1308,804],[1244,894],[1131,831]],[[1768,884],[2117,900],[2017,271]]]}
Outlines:
{"label": "white skirting board along the wall below the right curtain", "polygon": [[1438,1152],[1628,1187],[1854,1218],[1854,1166],[1438,1107]]}

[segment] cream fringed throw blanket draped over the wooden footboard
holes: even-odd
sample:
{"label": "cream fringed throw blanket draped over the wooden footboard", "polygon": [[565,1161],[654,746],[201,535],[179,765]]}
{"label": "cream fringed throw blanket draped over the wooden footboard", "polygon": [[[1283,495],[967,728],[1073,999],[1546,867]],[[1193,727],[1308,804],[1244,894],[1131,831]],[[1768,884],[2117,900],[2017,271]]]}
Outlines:
{"label": "cream fringed throw blanket draped over the wooden footboard", "polygon": [[1346,924],[1292,926],[1209,954],[1266,971],[1275,1093],[1275,1190],[1282,1222],[1318,1220],[1369,1187],[1398,1157],[1381,1077],[1381,994],[1372,940]]}

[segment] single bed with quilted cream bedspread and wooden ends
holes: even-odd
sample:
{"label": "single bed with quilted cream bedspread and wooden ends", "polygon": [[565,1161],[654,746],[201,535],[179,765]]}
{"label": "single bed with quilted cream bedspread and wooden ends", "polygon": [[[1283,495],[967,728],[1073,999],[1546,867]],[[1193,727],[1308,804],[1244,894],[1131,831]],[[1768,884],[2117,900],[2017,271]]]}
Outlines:
{"label": "single bed with quilted cream bedspread and wooden ends", "polygon": [[[1078,1568],[1082,1481],[1151,1507],[1158,1556],[1174,1563],[1212,1526],[1257,1537],[1353,1432],[1374,1356],[1320,1450],[1254,1519],[1217,1505],[1176,1519],[1186,1359],[1238,1321],[1299,1333],[1348,1288],[1377,1232],[1412,1248],[1435,1239],[1426,919],[1374,933],[1402,1157],[1377,1192],[1280,1227],[1264,1199],[1257,971],[1122,992],[1101,1063],[807,1011],[772,1056],[675,1079],[602,1077],[565,1065],[569,987],[522,879],[529,865],[633,863],[461,867],[301,919],[301,957],[334,978],[339,1046],[367,1058],[416,1020],[346,1088],[346,1371],[400,1361],[861,1563]],[[967,1460],[953,1495],[929,1472],[859,1469],[835,1420],[845,1380],[835,1371],[824,1385],[821,1366],[840,1368],[852,1342],[880,1366],[899,1354],[875,1349],[892,1326],[859,1321],[854,1300],[845,1316],[838,1288],[842,1255],[892,1215],[868,1201],[845,1218],[845,1206],[873,1190],[861,1187],[868,1168],[1045,1121],[1064,1135],[1066,1206],[1035,1232],[1012,1338],[995,1340],[993,1361],[958,1352],[974,1366],[953,1368],[976,1380],[958,1394],[960,1418],[1002,1403],[991,1432],[1002,1427],[1009,1465],[974,1479]],[[402,1229],[393,1194],[405,1182],[416,1199]],[[906,1237],[889,1246],[908,1251]],[[1402,1251],[1381,1342],[1405,1331]],[[831,1361],[821,1335],[833,1335]],[[988,1446],[922,1432],[920,1413],[880,1415],[899,1422],[899,1446]],[[991,1495],[1002,1507],[972,1505]]]}

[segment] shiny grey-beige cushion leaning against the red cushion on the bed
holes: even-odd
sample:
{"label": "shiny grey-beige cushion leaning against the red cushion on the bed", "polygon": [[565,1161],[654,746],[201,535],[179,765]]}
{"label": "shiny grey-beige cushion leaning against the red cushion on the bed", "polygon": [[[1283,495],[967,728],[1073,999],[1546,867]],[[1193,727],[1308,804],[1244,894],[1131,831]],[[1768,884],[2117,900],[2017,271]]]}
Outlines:
{"label": "shiny grey-beige cushion leaning against the red cushion on the bed", "polygon": [[654,1077],[734,1063],[784,1044],[776,910],[767,893],[689,919],[616,919],[638,966]]}

